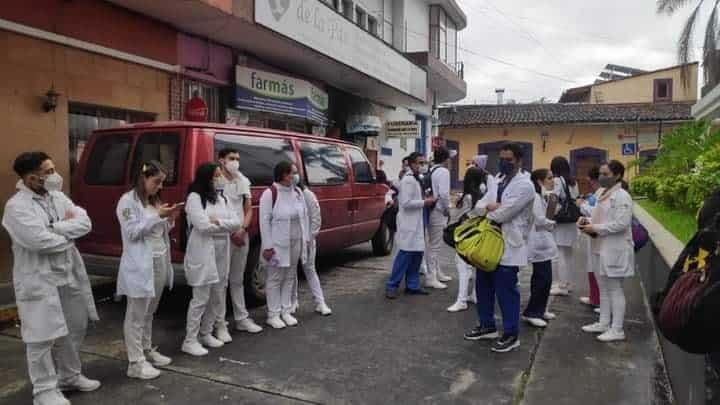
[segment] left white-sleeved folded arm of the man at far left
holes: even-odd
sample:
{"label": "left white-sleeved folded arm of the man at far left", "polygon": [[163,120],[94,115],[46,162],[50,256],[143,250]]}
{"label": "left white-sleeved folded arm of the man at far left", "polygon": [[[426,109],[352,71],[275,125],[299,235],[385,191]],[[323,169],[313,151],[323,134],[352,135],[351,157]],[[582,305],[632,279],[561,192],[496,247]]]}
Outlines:
{"label": "left white-sleeved folded arm of the man at far left", "polygon": [[2,224],[14,243],[35,253],[60,253],[72,246],[68,238],[50,232],[30,206],[8,204]]}

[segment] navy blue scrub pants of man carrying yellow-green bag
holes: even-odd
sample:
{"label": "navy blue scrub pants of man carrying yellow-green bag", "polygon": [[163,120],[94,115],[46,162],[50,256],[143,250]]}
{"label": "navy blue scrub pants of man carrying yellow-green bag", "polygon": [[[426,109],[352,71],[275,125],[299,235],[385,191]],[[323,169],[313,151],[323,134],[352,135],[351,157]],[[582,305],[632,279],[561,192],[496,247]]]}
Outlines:
{"label": "navy blue scrub pants of man carrying yellow-green bag", "polygon": [[520,332],[520,291],[517,266],[498,266],[487,273],[476,271],[475,293],[481,328],[495,328],[495,297],[503,316],[503,336],[517,336]]}

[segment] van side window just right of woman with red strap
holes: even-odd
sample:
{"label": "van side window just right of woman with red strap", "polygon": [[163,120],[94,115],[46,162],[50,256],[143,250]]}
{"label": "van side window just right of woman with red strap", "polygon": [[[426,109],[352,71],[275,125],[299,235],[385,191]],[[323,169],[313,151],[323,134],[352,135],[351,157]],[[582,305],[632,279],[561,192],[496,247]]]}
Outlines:
{"label": "van side window just right of woman with red strap", "polygon": [[328,186],[347,182],[347,163],[338,146],[303,142],[300,144],[300,153],[309,185]]}

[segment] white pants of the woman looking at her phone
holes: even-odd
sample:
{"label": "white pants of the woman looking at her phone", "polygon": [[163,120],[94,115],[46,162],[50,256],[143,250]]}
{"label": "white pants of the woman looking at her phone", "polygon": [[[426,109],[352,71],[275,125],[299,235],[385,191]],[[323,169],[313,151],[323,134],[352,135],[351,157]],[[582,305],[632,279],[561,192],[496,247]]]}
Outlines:
{"label": "white pants of the woman looking at her phone", "polygon": [[167,269],[172,268],[167,256],[153,258],[154,297],[127,297],[125,309],[125,349],[131,363],[144,361],[144,351],[152,349],[152,322],[167,280]]}

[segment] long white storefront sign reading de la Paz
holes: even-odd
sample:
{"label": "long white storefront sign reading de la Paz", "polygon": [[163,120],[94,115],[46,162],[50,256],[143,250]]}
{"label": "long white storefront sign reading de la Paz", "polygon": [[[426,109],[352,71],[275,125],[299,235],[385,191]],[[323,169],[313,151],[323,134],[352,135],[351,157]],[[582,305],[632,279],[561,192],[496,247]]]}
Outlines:
{"label": "long white storefront sign reading de la Paz", "polygon": [[425,71],[320,0],[256,0],[255,22],[425,100]]}

